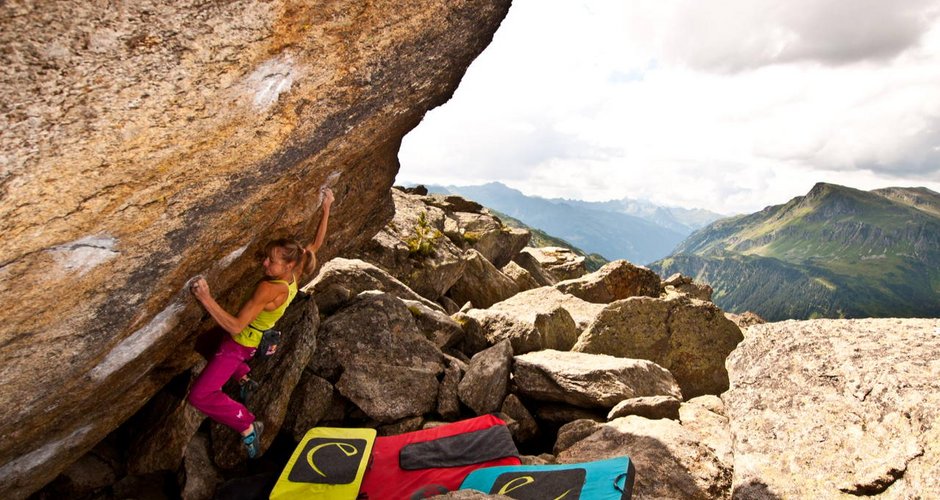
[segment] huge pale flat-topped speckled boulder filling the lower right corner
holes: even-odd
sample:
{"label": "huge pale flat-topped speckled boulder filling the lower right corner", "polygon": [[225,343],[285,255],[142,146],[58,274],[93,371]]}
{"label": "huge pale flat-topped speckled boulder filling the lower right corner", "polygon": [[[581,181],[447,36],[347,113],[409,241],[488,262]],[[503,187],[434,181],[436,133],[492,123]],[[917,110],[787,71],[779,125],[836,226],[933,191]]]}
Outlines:
{"label": "huge pale flat-topped speckled boulder filling the lower right corner", "polygon": [[940,320],[754,325],[725,394],[741,498],[940,492]]}

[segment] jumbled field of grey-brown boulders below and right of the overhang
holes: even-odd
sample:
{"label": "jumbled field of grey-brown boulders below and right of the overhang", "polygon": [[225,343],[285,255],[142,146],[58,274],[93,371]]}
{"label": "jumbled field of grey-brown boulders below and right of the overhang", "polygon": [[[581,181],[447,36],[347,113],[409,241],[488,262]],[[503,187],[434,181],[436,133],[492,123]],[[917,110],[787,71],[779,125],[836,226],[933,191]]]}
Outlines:
{"label": "jumbled field of grey-brown boulders below and right of the overhang", "polygon": [[[40,496],[117,495],[155,482],[190,499],[263,495],[274,476],[255,471],[283,467],[277,443],[311,427],[394,435],[489,413],[507,421],[524,463],[630,456],[635,498],[936,490],[940,321],[791,321],[742,334],[704,300],[706,287],[681,276],[657,284],[625,261],[448,314],[458,283],[502,273],[475,245],[486,242],[507,265],[541,251],[520,248],[517,234],[470,202],[399,190],[393,199],[403,201],[398,213],[361,258],[324,263],[292,304],[283,352],[252,362],[263,390],[248,405],[270,429],[266,465],[247,462],[233,433],[185,404],[197,362]],[[430,208],[440,212],[420,216]],[[466,238],[466,221],[498,234]],[[425,225],[447,232],[430,237],[426,254],[407,253],[416,234],[434,234]],[[382,248],[399,258],[362,259]],[[485,275],[470,264],[480,259]],[[449,288],[406,284],[415,269],[450,276],[454,266],[463,274],[432,279]],[[130,449],[122,436],[134,438]]]}

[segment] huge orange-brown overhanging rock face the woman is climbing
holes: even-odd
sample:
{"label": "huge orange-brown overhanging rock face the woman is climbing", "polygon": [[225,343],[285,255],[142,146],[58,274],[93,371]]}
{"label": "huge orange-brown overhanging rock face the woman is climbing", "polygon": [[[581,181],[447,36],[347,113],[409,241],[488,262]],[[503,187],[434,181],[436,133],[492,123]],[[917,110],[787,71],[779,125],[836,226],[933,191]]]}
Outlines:
{"label": "huge orange-brown overhanging rock face the woman is climbing", "polygon": [[322,260],[384,226],[401,138],[508,6],[0,3],[0,497],[195,362],[190,277],[235,309],[256,250],[312,237],[321,186]]}

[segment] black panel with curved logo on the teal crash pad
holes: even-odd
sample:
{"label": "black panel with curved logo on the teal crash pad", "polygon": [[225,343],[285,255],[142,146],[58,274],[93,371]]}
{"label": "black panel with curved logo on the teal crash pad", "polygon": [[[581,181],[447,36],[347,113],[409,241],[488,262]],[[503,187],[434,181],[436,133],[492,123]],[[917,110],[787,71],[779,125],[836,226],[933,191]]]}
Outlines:
{"label": "black panel with curved logo on the teal crash pad", "polygon": [[584,469],[506,472],[496,478],[490,493],[518,500],[578,500],[585,476]]}

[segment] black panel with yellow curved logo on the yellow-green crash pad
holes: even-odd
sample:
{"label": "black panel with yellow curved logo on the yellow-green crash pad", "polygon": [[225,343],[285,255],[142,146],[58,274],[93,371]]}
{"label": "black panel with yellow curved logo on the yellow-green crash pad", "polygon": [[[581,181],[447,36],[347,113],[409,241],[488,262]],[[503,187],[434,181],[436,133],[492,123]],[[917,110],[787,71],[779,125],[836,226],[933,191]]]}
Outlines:
{"label": "black panel with yellow curved logo on the yellow-green crash pad", "polygon": [[364,457],[365,439],[313,438],[307,441],[287,479],[295,483],[349,484]]}

